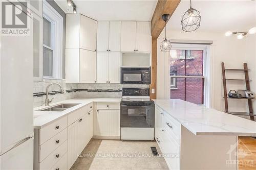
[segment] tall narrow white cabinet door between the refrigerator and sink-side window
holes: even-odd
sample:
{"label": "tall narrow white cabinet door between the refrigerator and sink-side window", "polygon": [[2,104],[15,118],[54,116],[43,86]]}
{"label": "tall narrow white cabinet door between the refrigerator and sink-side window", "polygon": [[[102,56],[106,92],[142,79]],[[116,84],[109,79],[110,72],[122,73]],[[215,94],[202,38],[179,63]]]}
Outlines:
{"label": "tall narrow white cabinet door between the refrigerator and sink-side window", "polygon": [[[38,1],[36,1],[39,3]],[[33,13],[33,74],[34,81],[42,81],[42,55],[43,55],[43,20]]]}

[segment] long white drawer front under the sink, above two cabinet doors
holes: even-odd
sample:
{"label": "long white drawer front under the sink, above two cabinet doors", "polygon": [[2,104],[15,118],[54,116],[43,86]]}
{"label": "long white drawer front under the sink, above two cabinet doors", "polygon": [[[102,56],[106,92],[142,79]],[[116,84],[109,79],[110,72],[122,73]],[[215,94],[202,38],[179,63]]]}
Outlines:
{"label": "long white drawer front under the sink, above two cabinet doors", "polygon": [[82,108],[70,113],[68,115],[68,126],[76,122],[77,119],[81,118],[83,115],[87,114],[93,109],[93,103],[90,103]]}

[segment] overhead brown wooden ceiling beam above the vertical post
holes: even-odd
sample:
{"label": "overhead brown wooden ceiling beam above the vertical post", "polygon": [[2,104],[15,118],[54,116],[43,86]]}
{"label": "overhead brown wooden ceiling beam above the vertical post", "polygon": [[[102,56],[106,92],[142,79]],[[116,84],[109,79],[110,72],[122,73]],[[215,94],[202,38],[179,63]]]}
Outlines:
{"label": "overhead brown wooden ceiling beam above the vertical post", "polygon": [[165,23],[162,19],[163,14],[173,15],[180,4],[180,0],[158,0],[156,9],[151,20],[151,36],[157,39],[163,31]]}

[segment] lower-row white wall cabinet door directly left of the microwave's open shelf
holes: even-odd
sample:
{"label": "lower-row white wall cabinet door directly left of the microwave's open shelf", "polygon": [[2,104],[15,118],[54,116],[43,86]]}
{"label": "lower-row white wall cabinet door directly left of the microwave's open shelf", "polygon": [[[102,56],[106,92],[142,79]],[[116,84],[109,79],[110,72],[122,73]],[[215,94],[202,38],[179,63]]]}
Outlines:
{"label": "lower-row white wall cabinet door directly left of the microwave's open shelf", "polygon": [[109,83],[120,83],[121,53],[109,53]]}

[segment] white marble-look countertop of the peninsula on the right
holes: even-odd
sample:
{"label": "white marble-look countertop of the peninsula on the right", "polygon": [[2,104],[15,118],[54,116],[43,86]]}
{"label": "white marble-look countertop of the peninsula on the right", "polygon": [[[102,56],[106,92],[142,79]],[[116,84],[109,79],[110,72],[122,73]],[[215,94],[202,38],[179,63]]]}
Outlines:
{"label": "white marble-look countertop of the peninsula on the right", "polygon": [[195,135],[256,136],[256,122],[182,100],[155,104]]}

